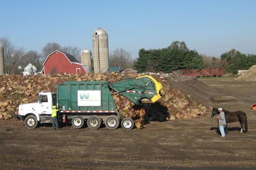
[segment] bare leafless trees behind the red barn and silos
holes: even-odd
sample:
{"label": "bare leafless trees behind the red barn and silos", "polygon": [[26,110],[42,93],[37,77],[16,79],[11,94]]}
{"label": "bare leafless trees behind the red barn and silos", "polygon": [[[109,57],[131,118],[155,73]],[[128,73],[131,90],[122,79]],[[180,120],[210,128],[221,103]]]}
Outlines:
{"label": "bare leafless trees behind the red barn and silos", "polygon": [[[53,51],[61,51],[73,55],[79,62],[81,62],[81,49],[73,46],[61,46],[56,42],[48,42],[42,48],[41,53],[35,50],[25,52],[23,48],[16,47],[10,42],[9,38],[1,37],[0,43],[4,48],[4,62],[6,74],[20,74],[21,71],[18,66],[25,67],[31,63],[37,68],[42,68],[42,64],[45,59]],[[131,53],[123,48],[116,48],[110,53],[109,63],[110,67],[120,67],[121,69],[133,68],[135,60],[132,59]]]}

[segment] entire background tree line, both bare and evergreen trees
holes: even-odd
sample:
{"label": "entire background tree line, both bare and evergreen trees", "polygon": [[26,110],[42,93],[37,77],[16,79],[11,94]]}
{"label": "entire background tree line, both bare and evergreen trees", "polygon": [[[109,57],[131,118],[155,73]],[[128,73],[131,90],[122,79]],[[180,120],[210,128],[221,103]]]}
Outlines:
{"label": "entire background tree line, both bare and evergreen trees", "polygon": [[[6,74],[20,74],[18,65],[26,66],[29,63],[41,68],[46,57],[55,50],[71,54],[79,62],[81,61],[81,50],[70,45],[62,47],[56,42],[48,42],[41,53],[38,53],[34,50],[25,52],[23,48],[13,45],[7,37],[0,38],[0,43],[4,47]],[[224,52],[220,57],[207,56],[187,48],[183,41],[174,41],[167,48],[149,50],[142,48],[137,59],[133,59],[131,53],[125,49],[116,48],[110,53],[109,64],[110,67],[121,69],[134,68],[140,73],[171,73],[174,70],[186,68],[224,68],[226,73],[236,74],[237,70],[249,69],[252,65],[256,65],[256,55],[242,54],[232,49]]]}

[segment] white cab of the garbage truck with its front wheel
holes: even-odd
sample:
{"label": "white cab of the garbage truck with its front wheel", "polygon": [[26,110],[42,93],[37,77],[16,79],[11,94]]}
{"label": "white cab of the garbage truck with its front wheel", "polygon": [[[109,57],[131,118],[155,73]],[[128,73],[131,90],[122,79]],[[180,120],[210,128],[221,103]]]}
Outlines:
{"label": "white cab of the garbage truck with its front wheel", "polygon": [[17,118],[25,120],[26,127],[32,129],[39,123],[51,123],[52,106],[56,105],[56,93],[40,92],[38,102],[19,105]]}

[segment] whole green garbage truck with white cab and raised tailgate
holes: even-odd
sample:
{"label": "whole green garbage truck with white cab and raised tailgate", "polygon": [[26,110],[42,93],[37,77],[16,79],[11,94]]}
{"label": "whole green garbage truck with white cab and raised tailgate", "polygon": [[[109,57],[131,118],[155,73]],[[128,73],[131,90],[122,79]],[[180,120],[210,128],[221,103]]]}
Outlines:
{"label": "whole green garbage truck with white cab and raised tailgate", "polygon": [[163,97],[163,86],[151,76],[126,79],[119,82],[80,81],[57,85],[57,92],[40,92],[38,102],[19,105],[17,118],[25,120],[32,129],[42,123],[51,123],[53,105],[62,108],[59,122],[71,122],[81,128],[87,122],[90,129],[98,129],[102,123],[108,129],[116,129],[120,122],[125,130],[134,127],[131,118],[121,120],[113,100],[113,94],[121,94],[137,105],[142,100],[156,102]]}

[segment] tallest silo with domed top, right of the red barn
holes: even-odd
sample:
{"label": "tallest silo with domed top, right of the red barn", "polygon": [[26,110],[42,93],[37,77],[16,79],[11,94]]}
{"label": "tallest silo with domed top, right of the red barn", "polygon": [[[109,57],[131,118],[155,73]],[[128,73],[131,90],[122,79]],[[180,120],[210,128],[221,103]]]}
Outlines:
{"label": "tallest silo with domed top, right of the red barn", "polygon": [[93,31],[93,67],[94,73],[109,71],[108,33],[103,28]]}

